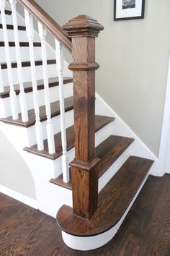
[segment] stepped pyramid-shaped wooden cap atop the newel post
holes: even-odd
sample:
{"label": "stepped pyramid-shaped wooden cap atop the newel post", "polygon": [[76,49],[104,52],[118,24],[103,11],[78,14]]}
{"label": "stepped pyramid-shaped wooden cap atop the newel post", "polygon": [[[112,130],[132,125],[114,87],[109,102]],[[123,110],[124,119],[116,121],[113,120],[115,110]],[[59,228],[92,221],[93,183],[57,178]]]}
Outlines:
{"label": "stepped pyramid-shaped wooden cap atop the newel post", "polygon": [[87,15],[79,15],[63,25],[63,30],[66,30],[68,35],[73,38],[77,36],[97,37],[100,30],[104,27]]}

